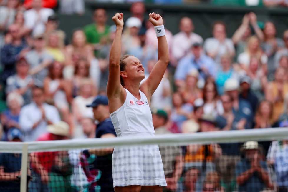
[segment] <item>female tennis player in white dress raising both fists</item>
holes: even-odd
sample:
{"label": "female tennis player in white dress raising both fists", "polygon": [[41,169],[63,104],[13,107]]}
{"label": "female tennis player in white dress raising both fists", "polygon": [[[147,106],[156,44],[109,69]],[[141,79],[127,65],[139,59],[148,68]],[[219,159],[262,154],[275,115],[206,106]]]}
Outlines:
{"label": "female tennis player in white dress raising both fists", "polygon": [[[154,136],[150,99],[158,87],[169,62],[168,45],[162,17],[150,13],[149,21],[158,37],[158,62],[148,79],[144,68],[132,55],[121,55],[123,14],[113,18],[117,26],[110,50],[107,95],[109,111],[118,137]],[[115,147],[112,163],[113,186],[116,192],[162,191],[167,186],[158,145]]]}

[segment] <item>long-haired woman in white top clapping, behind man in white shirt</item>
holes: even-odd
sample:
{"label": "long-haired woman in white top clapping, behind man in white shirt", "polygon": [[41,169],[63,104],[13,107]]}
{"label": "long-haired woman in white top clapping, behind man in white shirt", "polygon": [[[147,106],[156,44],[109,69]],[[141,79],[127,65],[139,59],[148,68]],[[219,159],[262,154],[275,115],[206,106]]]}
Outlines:
{"label": "long-haired woman in white top clapping, behind man in white shirt", "polygon": [[63,120],[70,123],[69,103],[72,102],[72,90],[70,86],[67,86],[69,82],[63,79],[61,63],[55,61],[49,66],[49,74],[45,77],[43,84],[46,99],[62,113]]}

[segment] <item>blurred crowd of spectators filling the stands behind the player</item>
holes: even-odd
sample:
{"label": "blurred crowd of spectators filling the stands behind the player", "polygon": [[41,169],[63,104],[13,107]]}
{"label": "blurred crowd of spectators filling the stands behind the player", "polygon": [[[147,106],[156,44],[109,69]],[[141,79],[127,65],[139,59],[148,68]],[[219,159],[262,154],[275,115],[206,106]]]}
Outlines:
{"label": "blurred crowd of spectators filling the stands behind the player", "polygon": [[[108,57],[116,26],[106,24],[105,9],[96,9],[94,23],[76,28],[69,41],[65,31],[58,29],[59,18],[51,9],[56,4],[0,1],[1,141],[94,138],[100,128],[98,124],[95,133],[94,120],[102,123],[107,113],[107,107],[96,111],[90,104],[95,96],[106,95]],[[130,11],[131,17],[124,23],[123,54],[138,57],[148,77],[158,59],[157,37],[143,2],[131,4]],[[84,8],[74,13],[83,12]],[[203,39],[193,32],[197,26],[192,19],[181,18],[175,35],[165,29],[170,64],[150,103],[156,134],[288,126],[288,30],[277,37],[273,21],[259,25],[256,14],[250,12],[232,37],[226,35],[226,24],[216,21],[212,36]],[[105,104],[105,99],[99,102]],[[100,111],[104,115],[96,118]],[[173,185],[168,179],[167,190],[180,190],[175,183],[182,175],[187,192],[205,188],[235,191],[236,186],[239,191],[287,191],[287,143],[191,145],[173,149],[172,155],[171,150],[160,149],[175,157],[162,157],[164,169],[164,162],[178,162],[177,166],[167,165],[167,178],[176,181]],[[32,169],[51,171],[52,164],[45,169],[39,163],[46,161],[47,155],[66,160],[69,156],[45,155],[35,154]],[[3,158],[0,156],[0,170]],[[32,174],[40,174],[40,183],[47,183],[47,172]]]}

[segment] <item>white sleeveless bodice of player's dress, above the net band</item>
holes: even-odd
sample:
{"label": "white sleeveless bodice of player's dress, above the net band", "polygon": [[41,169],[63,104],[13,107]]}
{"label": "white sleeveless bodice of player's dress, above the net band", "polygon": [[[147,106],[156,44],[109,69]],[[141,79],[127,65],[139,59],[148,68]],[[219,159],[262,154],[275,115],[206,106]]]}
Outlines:
{"label": "white sleeveless bodice of player's dress, above the net band", "polygon": [[111,120],[118,137],[141,135],[154,136],[152,114],[145,94],[140,92],[140,100],[134,97],[127,89],[124,104],[111,113]]}

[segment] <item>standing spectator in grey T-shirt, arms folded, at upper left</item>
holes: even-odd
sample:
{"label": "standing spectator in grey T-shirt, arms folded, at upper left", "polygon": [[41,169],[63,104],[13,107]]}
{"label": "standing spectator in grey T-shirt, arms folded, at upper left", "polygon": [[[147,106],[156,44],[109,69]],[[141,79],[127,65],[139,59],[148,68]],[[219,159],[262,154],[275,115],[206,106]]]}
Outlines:
{"label": "standing spectator in grey T-shirt, arms folded, at upper left", "polygon": [[48,75],[48,66],[54,61],[53,57],[44,49],[43,35],[34,36],[34,49],[30,50],[25,58],[30,65],[29,74],[33,76],[34,83],[42,87],[44,78]]}

